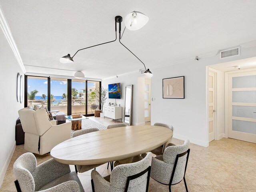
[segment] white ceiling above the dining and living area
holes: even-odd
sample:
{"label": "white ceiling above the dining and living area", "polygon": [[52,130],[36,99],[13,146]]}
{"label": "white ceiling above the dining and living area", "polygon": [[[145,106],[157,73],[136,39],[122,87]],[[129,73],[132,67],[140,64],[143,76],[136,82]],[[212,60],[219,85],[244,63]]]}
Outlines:
{"label": "white ceiling above the dining and living area", "polygon": [[126,30],[122,42],[147,68],[256,40],[255,0],[0,0],[0,6],[27,72],[73,76],[82,70],[86,77],[106,78],[142,69],[118,41],[82,50],[74,63],[59,62],[114,40],[114,17],[134,10],[149,21]]}

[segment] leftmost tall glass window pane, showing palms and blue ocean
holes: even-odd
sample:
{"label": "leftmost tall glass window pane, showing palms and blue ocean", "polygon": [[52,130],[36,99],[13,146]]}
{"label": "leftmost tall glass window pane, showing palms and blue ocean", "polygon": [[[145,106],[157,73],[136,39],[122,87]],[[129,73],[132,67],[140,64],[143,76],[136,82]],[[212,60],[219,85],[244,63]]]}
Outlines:
{"label": "leftmost tall glass window pane, showing palms and blue ocean", "polygon": [[[48,95],[48,82],[47,77],[27,77],[27,105],[34,108],[35,105],[38,106],[48,106],[47,105],[47,95]],[[26,99],[26,98],[25,98]]]}

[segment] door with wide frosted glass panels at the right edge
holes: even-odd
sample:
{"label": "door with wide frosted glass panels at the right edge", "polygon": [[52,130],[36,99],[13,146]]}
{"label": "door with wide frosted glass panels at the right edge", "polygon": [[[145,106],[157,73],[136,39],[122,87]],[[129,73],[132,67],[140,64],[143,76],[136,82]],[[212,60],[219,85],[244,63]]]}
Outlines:
{"label": "door with wide frosted glass panels at the right edge", "polygon": [[228,137],[256,143],[256,71],[228,75]]}

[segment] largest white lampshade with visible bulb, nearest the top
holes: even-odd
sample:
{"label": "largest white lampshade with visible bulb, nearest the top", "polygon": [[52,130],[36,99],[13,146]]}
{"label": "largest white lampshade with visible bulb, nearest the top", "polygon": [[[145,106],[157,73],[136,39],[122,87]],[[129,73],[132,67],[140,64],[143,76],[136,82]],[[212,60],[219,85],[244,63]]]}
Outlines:
{"label": "largest white lampshade with visible bulb, nearest the top", "polygon": [[130,12],[124,19],[126,28],[132,31],[142,28],[147,22],[148,16],[138,11]]}

